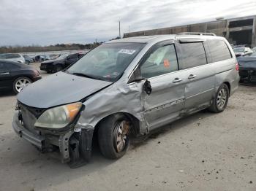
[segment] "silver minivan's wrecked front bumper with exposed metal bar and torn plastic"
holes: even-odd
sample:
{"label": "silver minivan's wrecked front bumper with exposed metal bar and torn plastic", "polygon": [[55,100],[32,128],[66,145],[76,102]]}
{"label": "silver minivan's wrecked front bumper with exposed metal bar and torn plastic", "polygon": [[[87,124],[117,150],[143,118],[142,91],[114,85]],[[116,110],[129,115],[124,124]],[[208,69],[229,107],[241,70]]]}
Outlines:
{"label": "silver minivan's wrecked front bumper with exposed metal bar and torn plastic", "polygon": [[91,126],[76,125],[64,132],[50,130],[33,130],[25,127],[15,113],[12,128],[26,141],[29,141],[42,152],[53,152],[56,148],[61,154],[61,162],[69,163],[71,168],[76,168],[89,162],[91,158],[91,142],[94,128]]}

